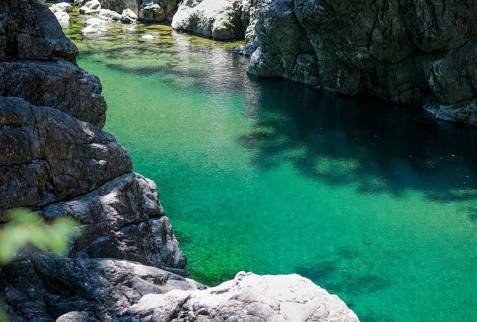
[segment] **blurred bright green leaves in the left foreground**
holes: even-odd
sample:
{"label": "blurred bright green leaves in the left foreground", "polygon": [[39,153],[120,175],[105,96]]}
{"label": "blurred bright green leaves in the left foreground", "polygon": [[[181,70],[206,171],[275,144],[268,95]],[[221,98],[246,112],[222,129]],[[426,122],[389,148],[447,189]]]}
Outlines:
{"label": "blurred bright green leaves in the left foreground", "polygon": [[31,211],[12,211],[11,221],[0,230],[0,265],[12,260],[27,244],[65,255],[69,238],[78,234],[78,223],[71,218],[61,217],[48,225]]}

